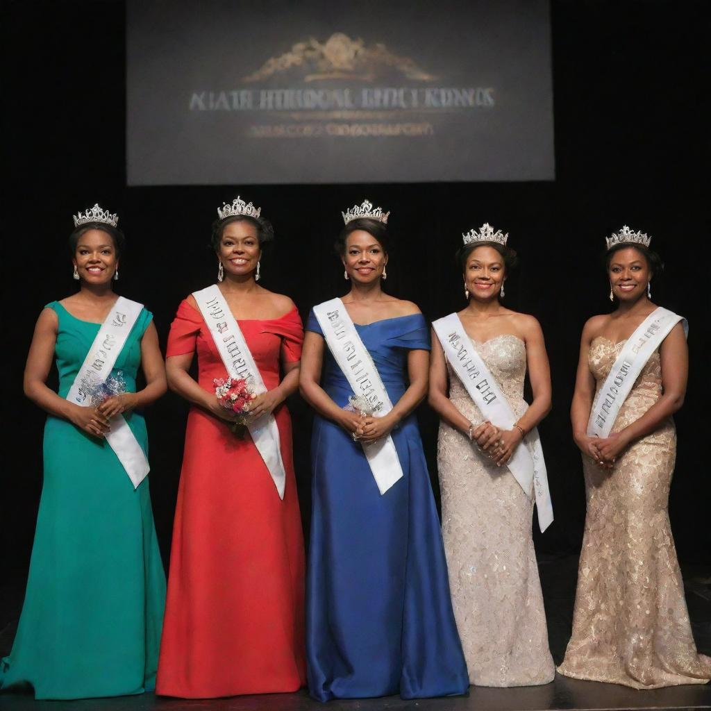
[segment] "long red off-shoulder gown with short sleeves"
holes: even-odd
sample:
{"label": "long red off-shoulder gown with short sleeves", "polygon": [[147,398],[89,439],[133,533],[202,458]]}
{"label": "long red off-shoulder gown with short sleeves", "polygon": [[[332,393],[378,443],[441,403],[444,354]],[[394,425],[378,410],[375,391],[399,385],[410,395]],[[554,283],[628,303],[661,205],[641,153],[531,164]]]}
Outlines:
{"label": "long red off-shoulder gown with short sleeves", "polygon": [[[239,321],[269,390],[279,356],[301,358],[294,309]],[[167,356],[198,352],[198,382],[214,390],[225,366],[187,301],[171,325]],[[284,500],[250,439],[199,407],[188,415],[156,693],[183,698],[295,691],[306,683],[304,540],[296,498],[292,424],[274,411],[287,471]]]}

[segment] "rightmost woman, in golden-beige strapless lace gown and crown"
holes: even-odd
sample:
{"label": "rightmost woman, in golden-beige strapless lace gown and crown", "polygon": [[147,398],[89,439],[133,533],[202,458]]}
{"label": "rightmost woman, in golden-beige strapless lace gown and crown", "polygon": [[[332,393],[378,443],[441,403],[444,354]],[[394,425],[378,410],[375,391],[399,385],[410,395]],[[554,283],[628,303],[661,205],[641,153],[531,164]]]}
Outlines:
{"label": "rightmost woman, in golden-beige strapless lace gown and crown", "polygon": [[618,307],[589,319],[580,343],[571,420],[587,515],[572,638],[558,670],[636,689],[703,684],[711,658],[696,653],[667,511],[685,324],[650,300],[662,267],[650,237],[624,227],[606,242]]}

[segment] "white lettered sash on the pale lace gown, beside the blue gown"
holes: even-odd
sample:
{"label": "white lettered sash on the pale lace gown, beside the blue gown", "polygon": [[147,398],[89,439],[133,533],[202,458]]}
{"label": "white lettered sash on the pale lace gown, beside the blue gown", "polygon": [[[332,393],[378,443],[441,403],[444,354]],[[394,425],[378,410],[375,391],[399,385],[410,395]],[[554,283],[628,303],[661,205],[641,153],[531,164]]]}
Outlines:
{"label": "white lettered sash on the pale lace gown, beside the blue gown", "polygon": [[[481,355],[466,335],[464,326],[457,314],[449,314],[444,319],[438,319],[432,324],[442,343],[444,355],[461,380],[474,405],[484,419],[500,429],[512,429],[517,418],[506,400],[496,378],[491,375]],[[526,496],[535,493],[535,503],[538,507],[538,525],[541,531],[553,521],[553,505],[548,491],[548,475],[545,469],[545,459],[540,446],[538,429],[534,427],[523,438],[524,447],[516,447],[506,466],[518,481]]]}

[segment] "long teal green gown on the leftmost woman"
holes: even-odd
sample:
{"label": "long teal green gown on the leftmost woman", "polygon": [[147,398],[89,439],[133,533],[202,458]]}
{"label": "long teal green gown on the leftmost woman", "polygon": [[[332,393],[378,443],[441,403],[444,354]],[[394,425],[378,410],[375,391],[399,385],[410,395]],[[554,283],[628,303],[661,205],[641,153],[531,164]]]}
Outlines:
{"label": "long teal green gown on the leftmost woman", "polygon": [[[99,329],[57,301],[55,356],[65,397]],[[144,309],[117,359],[136,391]],[[146,423],[124,415],[148,453]],[[48,416],[44,483],[25,602],[0,688],[38,699],[139,694],[154,686],[166,591],[148,478],[134,490],[105,441]]]}

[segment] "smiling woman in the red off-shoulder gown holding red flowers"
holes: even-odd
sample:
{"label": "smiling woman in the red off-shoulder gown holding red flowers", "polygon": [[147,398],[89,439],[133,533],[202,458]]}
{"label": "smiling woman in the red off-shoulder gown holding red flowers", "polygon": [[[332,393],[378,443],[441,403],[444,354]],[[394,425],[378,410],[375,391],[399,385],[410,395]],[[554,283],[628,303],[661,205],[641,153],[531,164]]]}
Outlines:
{"label": "smiling woman in the red off-shoulder gown holding red flowers", "polygon": [[[291,299],[257,284],[272,237],[252,203],[218,209],[220,283],[188,296],[171,326],[168,383],[193,407],[156,684],[163,695],[286,692],[306,681],[304,542],[284,405],[298,383],[303,328]],[[215,379],[228,376],[245,376],[258,393],[241,435],[215,396]]]}

